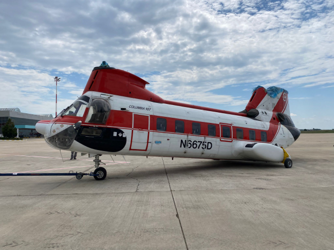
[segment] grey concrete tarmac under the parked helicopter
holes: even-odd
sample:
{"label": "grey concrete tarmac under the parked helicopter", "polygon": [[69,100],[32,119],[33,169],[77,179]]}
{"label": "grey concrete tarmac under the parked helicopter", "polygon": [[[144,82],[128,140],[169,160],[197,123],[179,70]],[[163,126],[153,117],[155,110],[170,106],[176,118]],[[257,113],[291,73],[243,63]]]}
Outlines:
{"label": "grey concrete tarmac under the parked helicopter", "polygon": [[[103,155],[103,181],[2,176],[0,249],[334,249],[333,144],[301,134],[291,169]],[[62,156],[44,139],[0,140],[0,173],[94,171]]]}

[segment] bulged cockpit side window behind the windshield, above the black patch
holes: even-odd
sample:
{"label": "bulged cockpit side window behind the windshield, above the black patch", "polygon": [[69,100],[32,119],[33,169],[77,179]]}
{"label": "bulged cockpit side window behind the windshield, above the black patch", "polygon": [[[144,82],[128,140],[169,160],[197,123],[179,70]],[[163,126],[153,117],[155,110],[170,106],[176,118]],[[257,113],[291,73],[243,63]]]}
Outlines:
{"label": "bulged cockpit side window behind the windshield, above the black patch", "polygon": [[89,106],[86,122],[105,124],[111,107],[107,100],[93,99]]}

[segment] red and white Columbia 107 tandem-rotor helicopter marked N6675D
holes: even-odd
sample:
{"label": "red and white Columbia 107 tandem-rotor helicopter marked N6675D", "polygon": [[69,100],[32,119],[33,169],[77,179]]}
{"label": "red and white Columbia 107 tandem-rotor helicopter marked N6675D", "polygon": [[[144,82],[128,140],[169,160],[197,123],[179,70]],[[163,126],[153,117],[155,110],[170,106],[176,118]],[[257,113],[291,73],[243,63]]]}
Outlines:
{"label": "red and white Columbia 107 tandem-rotor helicopter marked N6675D", "polygon": [[168,101],[145,88],[140,77],[95,67],[73,104],[36,130],[55,149],[95,157],[97,180],[106,177],[99,157],[164,156],[282,162],[300,135],[290,118],[288,92],[257,87],[242,112]]}

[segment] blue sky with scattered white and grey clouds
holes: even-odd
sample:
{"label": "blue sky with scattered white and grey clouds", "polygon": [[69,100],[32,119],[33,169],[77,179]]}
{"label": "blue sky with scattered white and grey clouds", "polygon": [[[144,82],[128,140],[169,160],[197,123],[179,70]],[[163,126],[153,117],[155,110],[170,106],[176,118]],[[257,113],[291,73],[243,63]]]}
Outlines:
{"label": "blue sky with scattered white and grey clouds", "polygon": [[0,108],[55,113],[105,60],[167,100],[242,111],[288,90],[300,129],[334,129],[334,1],[1,1]]}

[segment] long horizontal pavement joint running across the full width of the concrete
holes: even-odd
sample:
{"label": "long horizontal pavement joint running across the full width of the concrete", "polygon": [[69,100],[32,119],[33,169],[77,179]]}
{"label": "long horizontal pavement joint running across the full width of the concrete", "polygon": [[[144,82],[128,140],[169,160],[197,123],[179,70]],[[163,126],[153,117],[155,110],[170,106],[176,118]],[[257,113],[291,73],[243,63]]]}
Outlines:
{"label": "long horizontal pavement joint running across the full width of the concrete", "polygon": [[[71,178],[72,179],[72,178]],[[66,182],[66,181],[65,181]],[[63,182],[62,184],[64,184]],[[334,186],[310,186],[305,188],[272,188],[264,190],[275,190],[275,189],[327,189],[334,188]],[[233,190],[256,190],[256,189],[211,189],[211,190],[174,190],[173,192],[202,192],[202,191],[233,191]],[[51,190],[49,190],[51,191]],[[49,192],[47,191],[47,192]],[[257,190],[259,191],[259,190]],[[51,195],[110,195],[110,194],[133,194],[133,193],[158,193],[158,192],[171,192],[169,191],[139,191],[139,192],[106,192],[106,193],[71,193],[71,194],[39,194],[39,195],[0,195],[1,197],[17,197],[17,196],[51,196]],[[46,193],[46,192],[45,192]]]}

